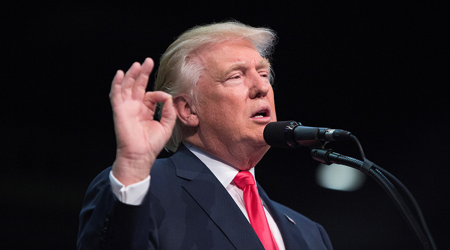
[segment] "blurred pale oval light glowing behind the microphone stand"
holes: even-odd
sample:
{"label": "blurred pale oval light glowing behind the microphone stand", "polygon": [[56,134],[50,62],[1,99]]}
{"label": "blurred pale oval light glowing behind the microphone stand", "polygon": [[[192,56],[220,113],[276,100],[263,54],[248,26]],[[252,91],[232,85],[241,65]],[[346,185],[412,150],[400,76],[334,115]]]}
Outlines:
{"label": "blurred pale oval light glowing behind the microphone stand", "polygon": [[352,167],[320,163],[315,172],[317,184],[335,190],[355,191],[365,182],[366,175]]}

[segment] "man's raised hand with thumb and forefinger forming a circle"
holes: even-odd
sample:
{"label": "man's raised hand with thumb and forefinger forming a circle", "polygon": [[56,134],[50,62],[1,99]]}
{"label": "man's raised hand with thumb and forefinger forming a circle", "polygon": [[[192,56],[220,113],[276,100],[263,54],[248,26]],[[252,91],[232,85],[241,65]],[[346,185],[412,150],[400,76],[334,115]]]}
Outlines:
{"label": "man's raised hand with thumb and forefinger forming a circle", "polygon": [[[134,62],[112,79],[111,101],[117,141],[112,173],[124,185],[146,178],[156,156],[170,137],[176,114],[172,96],[162,91],[145,92],[154,62]],[[163,102],[160,121],[153,119],[156,103]]]}

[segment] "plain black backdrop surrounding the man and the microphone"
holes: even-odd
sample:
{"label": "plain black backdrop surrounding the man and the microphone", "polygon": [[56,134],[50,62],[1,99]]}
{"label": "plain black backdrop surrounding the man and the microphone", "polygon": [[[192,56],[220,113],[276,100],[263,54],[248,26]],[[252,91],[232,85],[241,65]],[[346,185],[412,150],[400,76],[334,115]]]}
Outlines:
{"label": "plain black backdrop surrounding the man and the microphone", "polygon": [[[157,62],[189,27],[234,18],[278,33],[278,120],[351,131],[414,194],[437,246],[449,247],[442,6],[109,2],[2,11],[1,242],[74,248],[87,185],[114,159],[115,71],[146,56]],[[350,143],[331,146],[354,153]],[[256,178],[272,199],[321,223],[335,249],[420,248],[374,180],[353,192],[324,189],[315,167],[307,148],[271,148]]]}

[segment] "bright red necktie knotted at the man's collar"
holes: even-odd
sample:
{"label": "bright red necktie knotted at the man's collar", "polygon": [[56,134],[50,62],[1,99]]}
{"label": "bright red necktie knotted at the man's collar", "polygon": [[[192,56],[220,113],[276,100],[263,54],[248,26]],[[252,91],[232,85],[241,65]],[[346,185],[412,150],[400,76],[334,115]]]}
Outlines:
{"label": "bright red necktie knotted at the man's collar", "polygon": [[267,218],[265,217],[264,208],[254,183],[253,175],[248,171],[239,171],[234,177],[234,183],[243,190],[243,200],[245,210],[247,210],[248,219],[254,231],[261,240],[266,250],[276,249],[278,245],[270,231]]}

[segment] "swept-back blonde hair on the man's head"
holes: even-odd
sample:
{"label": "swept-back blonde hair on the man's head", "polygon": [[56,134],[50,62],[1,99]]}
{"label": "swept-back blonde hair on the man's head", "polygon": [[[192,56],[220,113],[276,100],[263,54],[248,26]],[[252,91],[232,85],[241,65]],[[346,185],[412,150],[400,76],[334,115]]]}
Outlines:
{"label": "swept-back blonde hair on the man's head", "polygon": [[[193,51],[230,38],[248,39],[262,57],[269,57],[276,43],[276,33],[273,30],[248,26],[234,20],[195,26],[179,35],[160,57],[154,90],[165,91],[173,97],[184,93],[190,100],[197,102],[195,86],[204,65],[192,56]],[[270,82],[272,79],[270,70]],[[165,145],[166,149],[175,151],[178,148],[181,127],[182,123],[177,119]]]}

